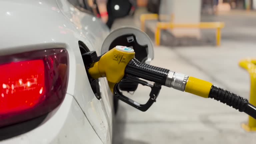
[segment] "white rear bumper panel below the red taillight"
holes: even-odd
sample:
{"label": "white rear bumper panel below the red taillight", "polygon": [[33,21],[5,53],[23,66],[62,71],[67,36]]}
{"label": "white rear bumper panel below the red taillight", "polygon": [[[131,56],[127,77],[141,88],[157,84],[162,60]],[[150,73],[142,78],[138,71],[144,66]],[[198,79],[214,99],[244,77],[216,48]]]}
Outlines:
{"label": "white rear bumper panel below the red taillight", "polygon": [[66,94],[62,104],[50,112],[37,128],[0,143],[100,144],[102,141],[92,129],[73,96]]}

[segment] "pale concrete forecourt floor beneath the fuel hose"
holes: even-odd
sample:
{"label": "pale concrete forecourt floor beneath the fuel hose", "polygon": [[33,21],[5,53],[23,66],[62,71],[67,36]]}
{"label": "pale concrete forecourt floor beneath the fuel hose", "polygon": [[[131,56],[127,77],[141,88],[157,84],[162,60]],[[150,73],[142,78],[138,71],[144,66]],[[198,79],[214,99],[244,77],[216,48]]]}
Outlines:
{"label": "pale concrete forecourt floor beneath the fuel hose", "polygon": [[[214,19],[226,22],[220,47],[155,46],[155,58],[151,64],[211,81],[248,98],[250,79],[248,73],[239,68],[238,61],[255,57],[256,42],[253,37],[256,36],[256,25],[252,23],[256,20],[251,21],[250,15],[241,16],[244,24],[237,19],[238,15],[228,15],[226,18],[225,15],[214,16]],[[126,18],[117,20],[114,27],[138,27],[137,24],[138,20]],[[130,97],[143,103],[148,94],[148,88],[139,86]],[[119,104],[114,130],[115,144],[256,143],[256,133],[245,132],[240,126],[247,121],[247,115],[213,99],[163,86],[157,102],[146,112],[121,101]]]}

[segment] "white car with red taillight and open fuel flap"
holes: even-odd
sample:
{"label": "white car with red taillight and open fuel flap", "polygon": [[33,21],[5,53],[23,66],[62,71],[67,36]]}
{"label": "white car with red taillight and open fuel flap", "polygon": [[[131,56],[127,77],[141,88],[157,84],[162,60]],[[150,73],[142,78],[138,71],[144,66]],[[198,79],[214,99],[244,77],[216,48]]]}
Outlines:
{"label": "white car with red taillight and open fuel flap", "polygon": [[128,34],[150,62],[153,46],[137,29],[109,34],[75,1],[0,1],[0,144],[112,143],[113,94],[105,78],[89,82],[81,54]]}

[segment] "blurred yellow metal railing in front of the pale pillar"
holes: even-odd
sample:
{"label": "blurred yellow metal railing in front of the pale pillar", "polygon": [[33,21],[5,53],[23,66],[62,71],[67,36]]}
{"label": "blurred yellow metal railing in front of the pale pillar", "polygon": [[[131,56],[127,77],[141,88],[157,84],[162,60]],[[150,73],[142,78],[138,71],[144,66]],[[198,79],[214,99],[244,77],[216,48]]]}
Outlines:
{"label": "blurred yellow metal railing in front of the pale pillar", "polygon": [[216,45],[220,45],[221,29],[224,27],[223,22],[200,22],[200,23],[167,23],[157,22],[155,31],[155,44],[160,45],[161,29],[173,28],[216,28]]}

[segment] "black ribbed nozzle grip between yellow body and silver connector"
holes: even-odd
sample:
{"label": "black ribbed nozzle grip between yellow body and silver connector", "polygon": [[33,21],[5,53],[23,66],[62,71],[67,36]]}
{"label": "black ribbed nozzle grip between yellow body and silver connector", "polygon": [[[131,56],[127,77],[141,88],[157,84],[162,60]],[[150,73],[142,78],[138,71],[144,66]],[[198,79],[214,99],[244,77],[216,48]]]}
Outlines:
{"label": "black ribbed nozzle grip between yellow body and silver connector", "polygon": [[166,78],[170,70],[144,64],[133,58],[126,66],[125,73],[145,80],[149,80],[161,85],[165,85]]}

